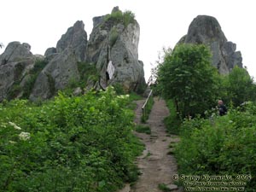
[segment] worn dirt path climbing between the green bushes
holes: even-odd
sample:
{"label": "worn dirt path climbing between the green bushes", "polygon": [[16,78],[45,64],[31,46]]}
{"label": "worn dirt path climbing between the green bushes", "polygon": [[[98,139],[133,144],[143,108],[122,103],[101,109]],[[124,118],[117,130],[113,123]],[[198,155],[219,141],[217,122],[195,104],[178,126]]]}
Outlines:
{"label": "worn dirt path climbing between the green bushes", "polygon": [[[144,101],[137,101],[135,122],[140,124]],[[143,155],[137,159],[138,167],[142,172],[137,183],[130,188],[126,185],[120,192],[161,192],[158,185],[165,183],[172,191],[175,189],[172,176],[177,173],[177,163],[173,155],[168,154],[172,149],[169,144],[177,143],[178,137],[167,136],[163,119],[169,115],[164,100],[154,98],[154,106],[149,115],[147,125],[151,128],[151,135],[136,133],[145,144]]]}

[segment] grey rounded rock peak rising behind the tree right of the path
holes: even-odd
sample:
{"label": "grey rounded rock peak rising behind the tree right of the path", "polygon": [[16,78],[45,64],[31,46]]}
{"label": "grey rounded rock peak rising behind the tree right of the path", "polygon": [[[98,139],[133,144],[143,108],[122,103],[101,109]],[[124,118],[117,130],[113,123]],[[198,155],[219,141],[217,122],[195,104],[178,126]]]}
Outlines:
{"label": "grey rounded rock peak rising behind the tree right of the path", "polygon": [[179,43],[207,44],[212,50],[212,65],[218,68],[219,73],[230,73],[236,65],[242,67],[241,52],[236,51],[236,44],[227,41],[218,20],[212,16],[197,16]]}

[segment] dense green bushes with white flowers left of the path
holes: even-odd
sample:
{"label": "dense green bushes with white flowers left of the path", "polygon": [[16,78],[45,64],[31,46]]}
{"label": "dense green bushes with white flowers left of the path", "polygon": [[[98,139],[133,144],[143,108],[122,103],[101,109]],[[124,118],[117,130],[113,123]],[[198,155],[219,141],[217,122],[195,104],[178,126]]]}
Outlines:
{"label": "dense green bushes with white flowers left of the path", "polygon": [[137,179],[142,146],[127,96],[112,88],[35,106],[0,104],[0,191],[97,191]]}

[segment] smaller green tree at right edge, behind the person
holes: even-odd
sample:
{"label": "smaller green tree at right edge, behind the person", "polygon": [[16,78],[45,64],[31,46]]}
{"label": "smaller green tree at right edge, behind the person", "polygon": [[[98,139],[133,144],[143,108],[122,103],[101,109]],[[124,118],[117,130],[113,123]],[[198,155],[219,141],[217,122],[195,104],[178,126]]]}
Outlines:
{"label": "smaller green tree at right edge, behind the person", "polygon": [[256,84],[245,68],[234,67],[225,77],[223,86],[227,93],[224,100],[232,102],[235,107],[242,102],[255,101]]}

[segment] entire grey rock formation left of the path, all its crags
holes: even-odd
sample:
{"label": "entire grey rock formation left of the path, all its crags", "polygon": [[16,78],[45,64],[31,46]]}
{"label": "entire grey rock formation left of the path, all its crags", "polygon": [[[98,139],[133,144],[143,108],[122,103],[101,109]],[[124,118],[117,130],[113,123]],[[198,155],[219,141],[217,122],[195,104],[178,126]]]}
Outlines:
{"label": "entire grey rock formation left of the path, all its crags", "polygon": [[[16,97],[45,100],[70,82],[82,83],[85,89],[120,84],[126,91],[142,90],[140,28],[131,12],[115,7],[111,15],[93,18],[93,26],[87,41],[84,23],[77,21],[44,56],[32,55],[29,44],[10,43],[0,55],[0,102]],[[76,95],[82,90],[73,89]]]}

